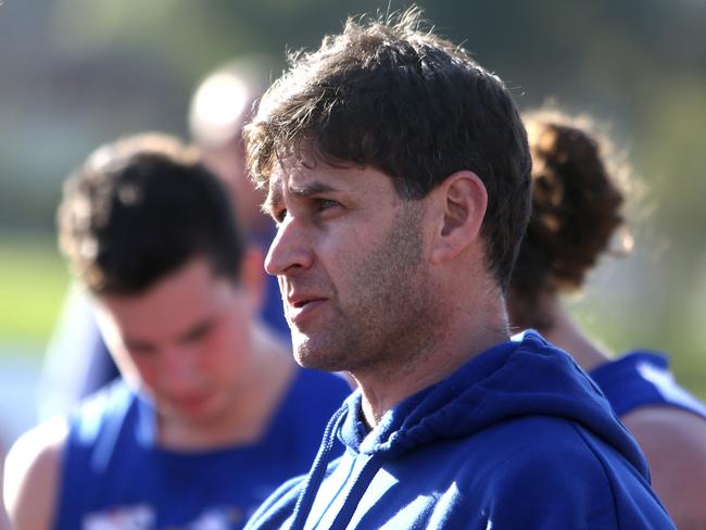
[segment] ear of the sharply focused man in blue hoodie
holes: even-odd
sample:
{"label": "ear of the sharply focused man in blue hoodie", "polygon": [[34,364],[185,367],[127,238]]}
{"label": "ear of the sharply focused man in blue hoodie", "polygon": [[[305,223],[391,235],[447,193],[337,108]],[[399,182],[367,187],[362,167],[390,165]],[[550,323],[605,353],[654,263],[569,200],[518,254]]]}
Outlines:
{"label": "ear of the sharply focused man in blue hoodie", "polygon": [[488,206],[488,192],[478,175],[469,171],[446,177],[433,191],[434,234],[432,263],[453,260],[479,235]]}

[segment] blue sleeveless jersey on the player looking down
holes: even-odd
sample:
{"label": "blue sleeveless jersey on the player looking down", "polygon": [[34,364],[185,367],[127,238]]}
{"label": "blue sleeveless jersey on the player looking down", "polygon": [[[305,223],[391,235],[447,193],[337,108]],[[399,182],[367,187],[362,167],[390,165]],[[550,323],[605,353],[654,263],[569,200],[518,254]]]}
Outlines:
{"label": "blue sleeveless jersey on the player looking down", "polygon": [[299,369],[256,443],[180,452],[156,443],[152,405],[118,380],[71,420],[53,528],[240,529],[279,484],[308,469],[349,394],[342,378]]}

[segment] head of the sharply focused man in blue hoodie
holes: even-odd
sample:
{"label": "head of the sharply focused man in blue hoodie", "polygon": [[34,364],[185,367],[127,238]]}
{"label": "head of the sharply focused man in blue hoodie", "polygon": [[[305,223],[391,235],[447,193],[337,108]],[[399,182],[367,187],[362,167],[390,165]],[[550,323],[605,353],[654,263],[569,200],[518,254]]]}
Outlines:
{"label": "head of the sharply focused man in blue hoodie", "polygon": [[[418,354],[454,327],[451,306],[500,305],[509,280],[529,216],[525,127],[499,77],[420,24],[415,10],[349,21],[291,58],[245,127],[279,225],[266,268],[305,366]],[[474,327],[497,339],[495,308],[492,331]]]}

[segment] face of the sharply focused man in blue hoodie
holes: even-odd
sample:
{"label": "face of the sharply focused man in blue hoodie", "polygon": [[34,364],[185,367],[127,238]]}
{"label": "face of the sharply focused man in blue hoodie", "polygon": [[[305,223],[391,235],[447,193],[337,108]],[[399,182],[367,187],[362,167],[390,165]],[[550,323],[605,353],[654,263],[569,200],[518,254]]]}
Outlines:
{"label": "face of the sharply focused man in blue hoodie", "polygon": [[278,166],[265,207],[278,223],[265,268],[300,364],[363,374],[430,336],[424,201],[403,201],[374,168],[318,163]]}

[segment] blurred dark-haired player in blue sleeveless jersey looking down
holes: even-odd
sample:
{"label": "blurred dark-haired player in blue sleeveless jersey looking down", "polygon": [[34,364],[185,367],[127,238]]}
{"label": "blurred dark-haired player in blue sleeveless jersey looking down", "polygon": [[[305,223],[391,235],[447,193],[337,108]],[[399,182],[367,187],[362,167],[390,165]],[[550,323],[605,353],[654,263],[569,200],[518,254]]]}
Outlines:
{"label": "blurred dark-haired player in blue sleeveless jersey looking down", "polygon": [[261,325],[262,256],[175,139],[98,150],[66,182],[59,227],[123,378],[13,446],[15,528],[240,528],[308,467],[348,383],[297,367]]}

